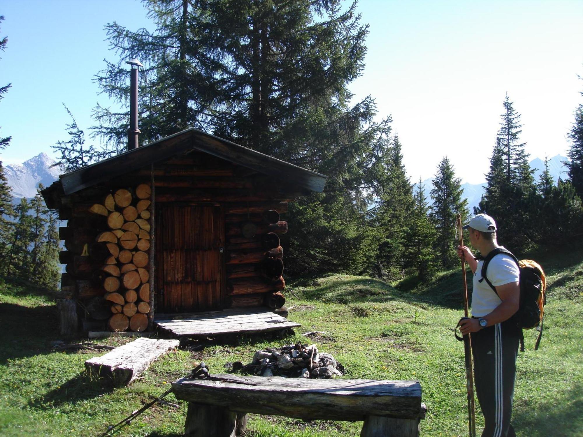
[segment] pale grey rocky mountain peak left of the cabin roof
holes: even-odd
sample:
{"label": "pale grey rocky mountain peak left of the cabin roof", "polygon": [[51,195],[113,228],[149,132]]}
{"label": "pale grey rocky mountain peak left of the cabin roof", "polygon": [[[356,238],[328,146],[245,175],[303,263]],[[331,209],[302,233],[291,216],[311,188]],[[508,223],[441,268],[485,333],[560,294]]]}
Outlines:
{"label": "pale grey rocky mountain peak left of the cabin roof", "polygon": [[36,195],[38,183],[49,186],[61,174],[59,167],[51,167],[57,161],[46,153],[24,161],[22,164],[9,164],[4,167],[8,184],[12,187],[15,198],[33,198]]}

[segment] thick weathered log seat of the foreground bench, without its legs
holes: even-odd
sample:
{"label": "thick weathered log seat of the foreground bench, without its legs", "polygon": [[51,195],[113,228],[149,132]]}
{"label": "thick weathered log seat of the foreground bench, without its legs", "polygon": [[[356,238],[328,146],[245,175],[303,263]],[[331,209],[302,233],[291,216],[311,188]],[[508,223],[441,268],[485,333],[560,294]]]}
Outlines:
{"label": "thick weathered log seat of the foreground bench, without its legs", "polygon": [[421,412],[419,381],[219,374],[178,379],[172,389],[180,400],[303,420],[361,421],[370,415],[416,419]]}

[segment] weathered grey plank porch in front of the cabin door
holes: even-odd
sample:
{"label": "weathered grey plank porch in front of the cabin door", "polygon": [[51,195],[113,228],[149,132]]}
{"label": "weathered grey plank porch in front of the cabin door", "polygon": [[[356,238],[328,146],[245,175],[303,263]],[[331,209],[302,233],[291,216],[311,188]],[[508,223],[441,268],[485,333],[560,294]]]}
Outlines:
{"label": "weathered grey plank porch in front of the cabin door", "polygon": [[251,334],[301,326],[268,308],[233,308],[190,314],[159,314],[154,323],[177,337],[212,337],[225,334]]}

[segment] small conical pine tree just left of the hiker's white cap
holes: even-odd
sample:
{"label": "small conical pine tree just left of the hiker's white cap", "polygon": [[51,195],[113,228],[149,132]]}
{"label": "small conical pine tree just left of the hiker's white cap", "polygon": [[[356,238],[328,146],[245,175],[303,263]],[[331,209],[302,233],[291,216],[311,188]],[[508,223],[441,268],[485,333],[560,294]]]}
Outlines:
{"label": "small conical pine tree just left of the hiker's white cap", "polygon": [[437,167],[431,189],[431,218],[437,230],[436,251],[446,269],[453,267],[458,260],[454,249],[457,214],[461,214],[462,221],[468,216],[468,199],[463,198],[461,181],[455,177],[448,158],[444,157]]}

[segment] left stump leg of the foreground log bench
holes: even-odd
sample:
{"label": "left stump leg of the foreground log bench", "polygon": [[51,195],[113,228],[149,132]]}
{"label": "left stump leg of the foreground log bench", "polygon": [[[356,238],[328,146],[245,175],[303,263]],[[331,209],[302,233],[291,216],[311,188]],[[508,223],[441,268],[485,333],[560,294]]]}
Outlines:
{"label": "left stump leg of the foreground log bench", "polygon": [[228,408],[188,403],[184,434],[189,437],[236,437],[237,413]]}

